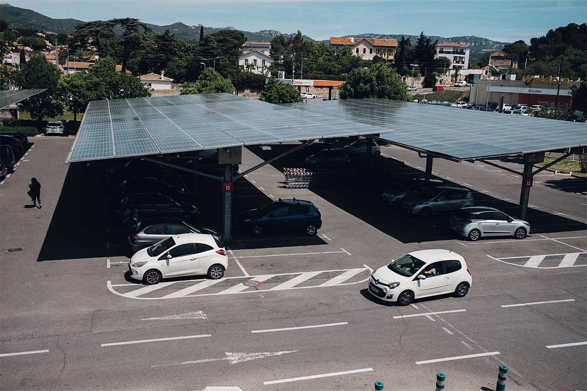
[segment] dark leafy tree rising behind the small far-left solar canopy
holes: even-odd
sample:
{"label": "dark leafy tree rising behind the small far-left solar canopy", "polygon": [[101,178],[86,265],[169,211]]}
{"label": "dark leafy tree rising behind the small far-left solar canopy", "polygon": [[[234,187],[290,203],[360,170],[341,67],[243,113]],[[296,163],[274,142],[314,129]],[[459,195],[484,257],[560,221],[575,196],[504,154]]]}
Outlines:
{"label": "dark leafy tree rising behind the small far-left solar canopy", "polygon": [[25,100],[21,106],[31,114],[31,118],[42,121],[43,117],[55,117],[63,114],[63,103],[59,100],[57,83],[61,70],[45,57],[32,56],[31,60],[21,65],[16,84],[21,89],[46,89]]}

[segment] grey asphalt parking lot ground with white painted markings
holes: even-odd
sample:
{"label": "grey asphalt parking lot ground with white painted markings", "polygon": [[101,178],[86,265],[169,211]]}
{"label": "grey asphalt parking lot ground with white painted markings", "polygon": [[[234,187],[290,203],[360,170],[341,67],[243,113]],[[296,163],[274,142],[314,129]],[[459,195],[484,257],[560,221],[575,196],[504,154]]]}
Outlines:
{"label": "grey asphalt parking lot ground with white painted markings", "polygon": [[[308,189],[284,186],[282,169],[295,164],[284,158],[235,182],[234,215],[309,200],[323,220],[316,236],[237,231],[221,280],[144,285],[127,274],[127,229],[107,201],[117,163],[64,165],[72,138],[35,141],[0,187],[2,389],[367,390],[378,380],[431,389],[437,372],[449,389],[493,389],[500,364],[508,389],[587,388],[584,179],[543,172],[528,237],[469,242],[446,215],[424,220],[380,202],[390,183],[423,172],[415,152],[382,147],[377,175]],[[291,147],[243,149],[239,171]],[[519,176],[441,159],[433,171],[471,189],[476,205],[516,215]],[[203,224],[220,229],[218,181],[165,175],[193,192]],[[22,207],[31,176],[43,209]],[[466,297],[398,307],[367,291],[373,270],[423,249],[464,257]]]}

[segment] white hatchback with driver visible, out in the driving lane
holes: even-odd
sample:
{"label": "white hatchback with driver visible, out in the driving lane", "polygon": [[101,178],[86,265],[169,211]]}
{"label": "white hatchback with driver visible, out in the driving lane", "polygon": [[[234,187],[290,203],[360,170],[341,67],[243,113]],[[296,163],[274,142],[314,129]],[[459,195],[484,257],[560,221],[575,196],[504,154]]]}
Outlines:
{"label": "white hatchback with driver visible, out in the driving lane", "polygon": [[464,297],[473,278],[463,257],[448,250],[413,251],[369,278],[369,292],[385,301],[408,305],[416,298],[454,293]]}

